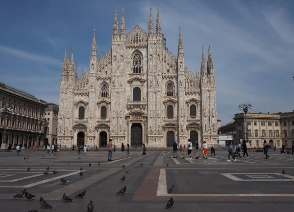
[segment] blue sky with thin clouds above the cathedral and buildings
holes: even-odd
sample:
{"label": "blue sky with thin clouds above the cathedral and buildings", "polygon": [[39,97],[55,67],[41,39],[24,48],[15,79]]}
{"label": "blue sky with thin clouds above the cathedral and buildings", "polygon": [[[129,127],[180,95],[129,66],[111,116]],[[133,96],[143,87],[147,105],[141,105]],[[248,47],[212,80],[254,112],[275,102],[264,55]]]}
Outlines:
{"label": "blue sky with thin clouds above the cathedral and buildings", "polygon": [[0,81],[58,104],[64,48],[74,48],[81,74],[89,67],[94,28],[104,53],[111,47],[115,8],[119,22],[124,8],[128,32],[136,24],[147,31],[150,7],[153,20],[159,7],[174,55],[181,26],[190,70],[200,68],[201,45],[211,45],[222,124],[241,112],[241,103],[251,103],[251,112],[294,110],[292,0],[1,1]]}

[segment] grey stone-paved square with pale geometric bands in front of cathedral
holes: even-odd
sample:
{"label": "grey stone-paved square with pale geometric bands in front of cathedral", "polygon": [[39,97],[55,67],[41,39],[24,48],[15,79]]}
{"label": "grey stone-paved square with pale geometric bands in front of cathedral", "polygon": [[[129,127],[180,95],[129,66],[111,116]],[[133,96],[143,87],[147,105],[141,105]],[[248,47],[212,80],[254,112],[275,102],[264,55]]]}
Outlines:
{"label": "grey stone-paved square with pale geometric bands in front of cathedral", "polygon": [[[264,159],[261,152],[249,152],[249,159],[238,158],[236,162],[226,161],[226,151],[198,160],[195,157],[188,160],[187,152],[174,159],[172,150],[147,151],[147,156],[142,156],[142,151],[131,151],[128,158],[115,152],[113,162],[107,161],[107,151],[70,153],[60,151],[56,156],[47,156],[43,151],[21,152],[20,156],[15,152],[0,153],[0,211],[45,211],[40,209],[40,196],[54,208],[46,211],[56,212],[86,212],[90,199],[95,212],[158,212],[165,211],[170,196],[175,203],[169,211],[177,212],[294,211],[294,157],[279,152],[270,152],[270,159]],[[24,160],[27,155],[29,160]],[[49,174],[45,176],[42,172],[48,166]],[[83,176],[78,174],[80,167]],[[53,174],[53,170],[58,173]],[[125,170],[130,172],[126,174]],[[281,175],[282,170],[285,175]],[[123,175],[125,182],[120,181]],[[62,176],[70,181],[68,185],[61,185]],[[174,192],[167,194],[172,185]],[[116,196],[124,186],[126,194]],[[36,199],[27,202],[25,198],[12,198],[24,188],[36,195]],[[73,198],[84,190],[84,199],[63,203],[63,192]]]}

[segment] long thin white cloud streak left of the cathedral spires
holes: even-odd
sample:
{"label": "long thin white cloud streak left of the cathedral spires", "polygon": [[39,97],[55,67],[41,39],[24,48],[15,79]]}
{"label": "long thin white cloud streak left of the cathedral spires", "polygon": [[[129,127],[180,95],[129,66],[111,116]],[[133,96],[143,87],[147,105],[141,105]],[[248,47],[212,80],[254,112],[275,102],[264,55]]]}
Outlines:
{"label": "long thin white cloud streak left of the cathedral spires", "polygon": [[12,48],[5,45],[0,45],[0,51],[4,53],[8,53],[13,57],[16,57],[22,60],[29,60],[35,63],[45,63],[45,64],[58,66],[58,67],[60,67],[60,65],[62,64],[61,61],[56,60],[52,57],[26,52],[24,50]]}

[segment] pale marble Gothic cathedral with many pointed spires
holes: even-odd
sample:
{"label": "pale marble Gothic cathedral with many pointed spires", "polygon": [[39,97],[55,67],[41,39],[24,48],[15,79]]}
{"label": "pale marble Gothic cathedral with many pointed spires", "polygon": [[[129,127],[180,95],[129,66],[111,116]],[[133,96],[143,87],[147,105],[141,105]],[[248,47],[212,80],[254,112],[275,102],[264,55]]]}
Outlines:
{"label": "pale marble Gothic cathedral with many pointed spires", "polygon": [[98,59],[96,35],[87,71],[78,77],[64,55],[60,80],[57,139],[63,145],[105,147],[109,138],[120,146],[172,147],[189,138],[217,144],[216,80],[211,49],[202,59],[200,73],[185,67],[181,29],[174,56],[161,33],[159,11],[156,28],[148,33],[136,25],[120,31],[115,11],[112,46]]}

